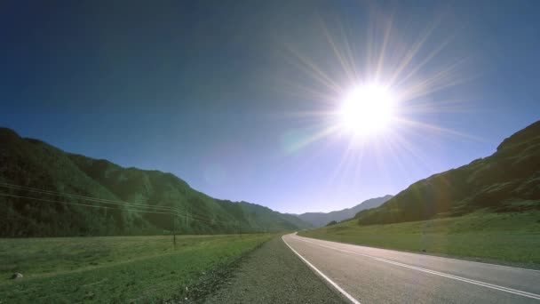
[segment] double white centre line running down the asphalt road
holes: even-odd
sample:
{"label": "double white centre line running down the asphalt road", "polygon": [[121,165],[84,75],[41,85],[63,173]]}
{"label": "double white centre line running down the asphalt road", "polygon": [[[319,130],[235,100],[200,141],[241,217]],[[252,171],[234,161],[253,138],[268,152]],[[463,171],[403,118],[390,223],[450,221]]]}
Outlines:
{"label": "double white centre line running down the asphalt road", "polygon": [[415,269],[415,270],[418,270],[418,271],[423,271],[425,273],[433,274],[433,275],[436,275],[436,276],[444,276],[444,277],[448,277],[448,278],[451,278],[451,279],[454,279],[454,280],[463,281],[463,282],[470,283],[470,284],[477,284],[477,285],[480,285],[480,286],[496,289],[498,291],[510,292],[510,293],[517,294],[517,295],[520,295],[520,296],[523,296],[523,297],[528,297],[528,298],[540,300],[540,294],[536,294],[536,293],[532,293],[532,292],[522,292],[522,291],[519,291],[519,290],[516,290],[516,289],[512,289],[512,288],[508,288],[508,287],[504,287],[504,286],[499,286],[499,285],[496,285],[496,284],[488,284],[488,283],[485,283],[485,282],[480,282],[480,281],[476,281],[476,280],[473,280],[473,279],[468,279],[468,278],[462,277],[462,276],[453,276],[453,275],[445,274],[443,272],[430,270],[430,269],[426,269],[426,268],[419,268],[419,267],[412,266],[412,265],[409,265],[409,264],[403,264],[403,263],[400,263],[400,262],[396,262],[396,261],[393,261],[393,260],[385,260],[385,259],[377,258],[376,256],[373,256],[373,255],[365,254],[365,253],[352,252],[352,251],[349,251],[349,250],[339,249],[339,248],[332,247],[332,246],[325,245],[325,244],[318,244],[318,243],[313,242],[313,241],[304,240],[304,239],[302,239],[302,238],[300,238],[298,236],[291,236],[291,237],[295,238],[295,239],[298,239],[299,241],[302,241],[302,242],[316,244],[318,246],[330,248],[330,249],[336,250],[338,252],[353,253],[353,254],[356,254],[356,255],[361,255],[361,256],[364,256],[364,257],[367,257],[367,258],[371,258],[373,260],[382,261],[382,262],[385,262],[385,263],[388,263],[388,264],[393,264],[393,265],[401,266],[401,267],[404,267],[404,268],[411,268],[411,269]]}

